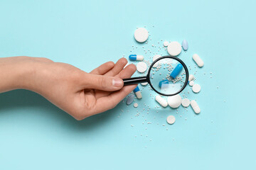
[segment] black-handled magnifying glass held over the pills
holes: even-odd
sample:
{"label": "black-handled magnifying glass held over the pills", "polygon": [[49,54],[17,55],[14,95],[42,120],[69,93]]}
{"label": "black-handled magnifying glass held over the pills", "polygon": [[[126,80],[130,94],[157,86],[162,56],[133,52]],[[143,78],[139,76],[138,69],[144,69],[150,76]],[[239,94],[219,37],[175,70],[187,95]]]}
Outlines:
{"label": "black-handled magnifying glass held over the pills", "polygon": [[148,82],[156,93],[174,96],[185,89],[188,76],[188,68],[182,60],[166,55],[151,64],[146,77],[132,77],[123,81],[124,86]]}

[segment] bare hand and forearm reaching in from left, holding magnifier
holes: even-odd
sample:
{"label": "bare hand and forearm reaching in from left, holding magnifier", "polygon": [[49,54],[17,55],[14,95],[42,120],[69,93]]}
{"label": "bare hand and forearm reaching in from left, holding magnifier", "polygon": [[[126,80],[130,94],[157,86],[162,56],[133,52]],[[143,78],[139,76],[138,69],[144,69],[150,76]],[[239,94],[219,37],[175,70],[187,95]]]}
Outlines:
{"label": "bare hand and forearm reaching in from left, holding magnifier", "polygon": [[124,68],[126,64],[127,60],[121,58],[87,73],[47,58],[5,57],[0,59],[0,93],[31,90],[82,120],[114,108],[136,88],[137,85],[124,86],[122,79],[132,77],[136,71],[134,64]]}

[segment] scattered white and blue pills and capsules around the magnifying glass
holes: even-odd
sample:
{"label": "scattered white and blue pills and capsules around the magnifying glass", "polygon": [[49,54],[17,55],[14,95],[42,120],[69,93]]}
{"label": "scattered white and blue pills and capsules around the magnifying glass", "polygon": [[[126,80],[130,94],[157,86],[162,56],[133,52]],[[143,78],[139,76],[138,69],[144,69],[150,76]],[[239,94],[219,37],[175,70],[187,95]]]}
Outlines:
{"label": "scattered white and blue pills and capsules around the magnifying glass", "polygon": [[[135,32],[134,32],[134,38],[135,38],[135,40],[137,40],[137,42],[139,42],[141,44],[142,43],[148,44],[148,39],[150,39],[149,38],[149,32],[148,32],[148,30],[146,30],[146,28],[137,28],[137,30],[135,30]],[[132,46],[132,47],[134,49],[134,46]],[[146,50],[144,46],[142,46],[142,48],[144,49],[145,54],[148,54],[148,53],[150,54],[151,53],[150,49]],[[151,45],[151,48],[158,49],[158,52],[161,49],[164,49],[167,52],[166,55],[169,54],[171,56],[177,57],[178,55],[181,54],[182,49],[183,49],[184,52],[186,52],[188,50],[188,41],[183,40],[181,42],[181,44],[177,41],[172,41],[172,42],[164,41],[162,43],[162,45],[159,45],[159,42],[158,42],[158,45]],[[130,52],[132,52],[132,50]],[[157,53],[152,54],[151,62],[154,62],[155,60],[157,60],[161,56],[164,56],[164,55],[159,55]],[[201,57],[199,57],[199,55],[194,54],[192,56],[192,59],[193,59],[194,62],[196,62],[198,67],[203,67],[204,63],[203,63],[203,60],[201,59]],[[140,74],[143,74],[143,75],[146,73],[146,70],[148,69],[149,65],[151,64],[151,62],[145,60],[145,58],[142,54],[139,54],[139,55],[131,54],[131,55],[129,55],[129,60],[132,61],[132,62],[137,62],[138,61],[137,64],[136,64],[137,72],[139,72]],[[169,81],[173,81],[174,83],[176,83],[178,81],[182,81],[181,77],[186,76],[185,72],[181,72],[181,70],[183,69],[181,64],[178,64],[175,68],[173,68],[173,67],[171,67],[171,65],[156,62],[153,65],[152,69],[153,69],[153,71],[159,71],[159,69],[162,66],[164,66],[164,69],[168,69],[169,71],[172,70],[172,72],[168,77],[166,77],[166,79],[163,79],[163,81],[159,82],[160,87],[163,86],[164,84],[166,84],[166,82],[168,83]],[[195,66],[195,68],[196,68],[196,66]],[[150,77],[153,78],[154,74],[155,74],[155,72],[152,72]],[[161,75],[161,73],[158,73],[158,74]],[[180,77],[177,77],[178,75],[180,75]],[[196,78],[195,78],[194,75],[193,74],[189,75],[188,85],[191,86],[191,90],[193,91],[194,94],[198,94],[201,91],[201,86],[199,84],[195,84]],[[148,83],[145,82],[145,83],[142,83],[141,85],[142,85],[142,88],[144,89],[143,86],[147,86]],[[149,86],[149,90],[151,90],[150,86]],[[134,94],[135,94],[137,99],[142,98],[142,92],[140,91],[139,86],[137,86],[137,88],[134,89],[133,93],[130,94],[127,97],[127,100],[126,100],[127,105],[130,105],[133,101],[136,100]],[[189,94],[189,92],[188,92],[188,94]],[[183,108],[186,109],[186,108],[188,108],[188,106],[191,106],[194,113],[196,113],[196,114],[201,113],[201,109],[199,108],[198,103],[195,100],[190,101],[185,95],[183,95],[183,98],[181,98],[180,94],[176,94],[174,96],[167,97],[167,100],[164,96],[161,96],[159,94],[157,94],[156,96],[153,96],[153,95],[150,94],[150,97],[154,98],[156,100],[156,102],[159,103],[159,106],[155,106],[155,108],[161,108],[161,107],[166,108],[167,106],[170,106],[171,108],[176,109],[179,106],[183,106]],[[139,105],[138,105],[138,103],[134,103],[133,106],[134,106],[134,108],[137,108]],[[146,104],[144,104],[144,106],[146,106]],[[148,114],[149,109],[150,109],[150,107],[148,106],[148,108],[147,109],[144,108],[143,111],[147,111],[147,114]],[[156,112],[158,112],[158,111],[156,111]],[[135,116],[138,116],[139,114],[140,113],[137,111],[137,115],[135,115]],[[166,118],[166,122],[171,124],[171,125],[174,124],[175,121],[176,121],[176,118],[174,117],[174,115],[169,115]],[[166,129],[166,130],[168,130],[168,129]]]}

